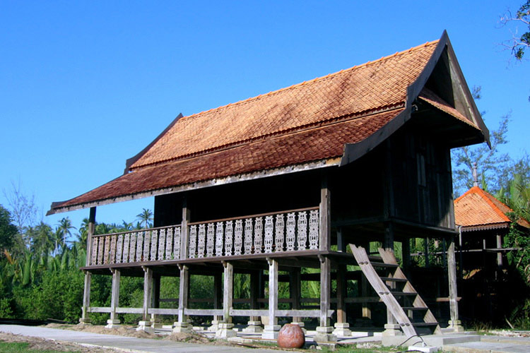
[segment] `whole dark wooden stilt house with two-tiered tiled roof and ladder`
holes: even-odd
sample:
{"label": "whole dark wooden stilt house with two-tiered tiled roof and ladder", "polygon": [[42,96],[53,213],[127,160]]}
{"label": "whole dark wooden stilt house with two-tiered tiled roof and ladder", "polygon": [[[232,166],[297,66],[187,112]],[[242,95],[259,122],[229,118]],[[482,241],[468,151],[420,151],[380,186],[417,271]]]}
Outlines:
{"label": "whole dark wooden stilt house with two-tiered tiled roof and ladder", "polygon": [[[117,313],[142,313],[141,325],[149,324],[149,315],[177,314],[174,330],[186,331],[187,316],[213,316],[217,335],[230,337],[232,317],[249,317],[249,331],[261,330],[259,318],[268,317],[263,337],[273,338],[278,317],[300,325],[302,318],[318,318],[315,340],[329,341],[348,335],[346,306],[361,304],[361,318],[383,301],[385,334],[437,331],[396,262],[394,242],[402,243],[406,273],[409,240],[442,237],[449,244],[449,325],[456,330],[458,233],[449,150],[484,140],[488,130],[445,33],[367,64],[179,116],[127,160],[121,177],[49,210],[90,208],[81,321],[90,311],[110,313],[109,325],[119,323]],[[148,196],[155,197],[153,229],[93,234],[97,206]],[[380,256],[367,252],[375,241],[382,243]],[[265,300],[266,290],[259,290],[264,270]],[[90,306],[90,275],[111,272],[110,308]],[[250,274],[250,309],[233,309],[234,273]],[[194,274],[215,278],[211,309],[189,309]],[[143,308],[119,307],[120,275],[144,277]],[[180,277],[178,309],[151,304],[160,276]],[[346,295],[351,279],[363,282],[358,297]],[[284,300],[290,309],[278,309],[278,280],[290,281]],[[319,309],[302,309],[301,280],[319,280]]]}

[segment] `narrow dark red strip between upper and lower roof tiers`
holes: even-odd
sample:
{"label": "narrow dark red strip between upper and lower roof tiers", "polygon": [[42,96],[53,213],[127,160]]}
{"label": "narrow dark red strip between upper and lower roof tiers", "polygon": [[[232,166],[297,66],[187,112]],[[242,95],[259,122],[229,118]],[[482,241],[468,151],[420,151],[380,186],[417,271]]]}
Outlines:
{"label": "narrow dark red strip between upper and lower roof tiers", "polygon": [[391,104],[391,105],[386,106],[386,107],[378,107],[377,109],[368,109],[368,110],[365,110],[363,112],[346,114],[346,115],[343,115],[343,116],[336,116],[334,118],[325,119],[325,120],[322,120],[322,121],[314,121],[314,122],[312,122],[310,124],[304,124],[304,125],[301,125],[301,126],[295,126],[293,128],[287,128],[287,129],[281,130],[281,131],[274,131],[272,133],[265,133],[265,134],[262,134],[262,135],[259,135],[259,136],[254,136],[253,138],[247,138],[245,140],[238,140],[238,141],[235,141],[235,142],[232,142],[232,143],[226,143],[225,145],[220,145],[220,146],[216,146],[216,147],[213,147],[213,148],[208,148],[206,150],[200,150],[200,151],[196,151],[196,152],[187,153],[185,155],[179,155],[178,157],[171,157],[171,158],[167,158],[165,160],[158,160],[158,161],[155,161],[155,162],[141,164],[141,165],[139,165],[137,167],[134,167],[134,168],[131,168],[129,170],[131,172],[133,172],[134,170],[143,169],[143,168],[146,168],[146,167],[153,167],[153,166],[155,166],[157,164],[165,164],[165,163],[169,163],[169,162],[175,162],[176,160],[185,160],[187,158],[199,157],[200,155],[208,155],[209,153],[215,153],[215,152],[218,152],[220,150],[227,150],[229,148],[235,148],[235,147],[238,147],[238,146],[241,146],[241,145],[247,145],[247,144],[250,144],[250,143],[254,143],[257,140],[262,140],[263,138],[266,138],[266,137],[274,137],[274,138],[276,138],[278,136],[284,136],[284,135],[289,135],[289,134],[293,134],[293,133],[298,133],[298,132],[301,132],[301,131],[304,131],[304,130],[307,130],[307,129],[311,129],[311,128],[321,128],[321,127],[324,127],[324,126],[327,126],[327,125],[330,125],[330,124],[334,124],[334,123],[338,123],[338,122],[342,122],[342,121],[350,121],[350,120],[353,120],[353,119],[361,119],[361,118],[364,118],[366,116],[381,114],[381,113],[385,113],[385,112],[391,112],[392,110],[401,109],[403,107],[404,107],[403,103]]}

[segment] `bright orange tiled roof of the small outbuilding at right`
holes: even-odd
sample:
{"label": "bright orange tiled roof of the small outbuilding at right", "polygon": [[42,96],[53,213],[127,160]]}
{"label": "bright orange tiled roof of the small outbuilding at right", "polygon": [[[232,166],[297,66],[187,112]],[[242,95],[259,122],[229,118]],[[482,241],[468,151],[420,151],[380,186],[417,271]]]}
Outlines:
{"label": "bright orange tiled roof of the small outbuilding at right", "polygon": [[[490,193],[473,186],[454,201],[454,219],[457,225],[473,229],[508,227],[512,222],[506,213],[513,210]],[[530,227],[525,220],[519,225]]]}

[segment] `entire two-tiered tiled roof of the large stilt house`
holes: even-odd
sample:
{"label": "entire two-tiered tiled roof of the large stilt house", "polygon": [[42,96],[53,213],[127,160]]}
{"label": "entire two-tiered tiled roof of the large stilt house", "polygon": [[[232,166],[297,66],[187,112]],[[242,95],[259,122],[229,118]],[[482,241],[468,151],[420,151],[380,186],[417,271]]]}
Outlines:
{"label": "entire two-tiered tiled roof of the large stilt house", "polygon": [[[447,34],[404,52],[206,112],[179,117],[129,159],[124,175],[49,213],[352,162],[410,119],[422,93],[481,131],[480,115],[423,91]],[[469,92],[467,87],[464,88]],[[427,97],[428,98],[425,98]],[[468,102],[474,107],[473,100]],[[471,114],[471,115],[470,115]],[[462,123],[462,121],[466,121]],[[478,141],[477,141],[478,142]]]}

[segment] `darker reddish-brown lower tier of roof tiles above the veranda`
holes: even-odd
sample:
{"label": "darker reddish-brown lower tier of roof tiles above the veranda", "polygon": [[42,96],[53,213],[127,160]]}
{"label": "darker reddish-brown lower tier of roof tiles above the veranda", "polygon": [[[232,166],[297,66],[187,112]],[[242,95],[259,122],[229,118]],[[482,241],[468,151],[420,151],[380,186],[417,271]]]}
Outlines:
{"label": "darker reddish-brown lower tier of roof tiles above the veranda", "polygon": [[335,124],[262,138],[199,157],[144,167],[56,207],[340,157],[344,144],[364,140],[402,111],[403,109],[394,109],[390,112],[347,119]]}

